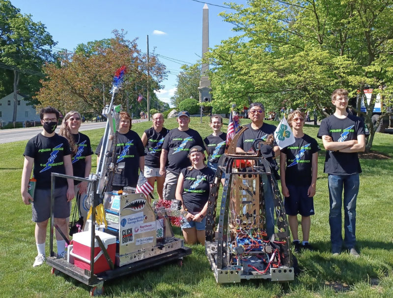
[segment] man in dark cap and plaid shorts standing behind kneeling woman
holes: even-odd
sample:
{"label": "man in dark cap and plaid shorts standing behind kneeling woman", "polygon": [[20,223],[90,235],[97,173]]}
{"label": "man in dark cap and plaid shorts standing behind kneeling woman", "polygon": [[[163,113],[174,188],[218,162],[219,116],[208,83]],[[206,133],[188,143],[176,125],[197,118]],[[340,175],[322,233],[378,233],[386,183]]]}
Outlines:
{"label": "man in dark cap and plaid shorts standing behind kneeling woman", "polygon": [[[165,175],[163,197],[166,200],[175,198],[177,179],[180,171],[191,165],[188,153],[193,146],[204,148],[199,133],[188,127],[190,114],[181,111],[177,115],[178,128],[169,130],[164,140],[160,156],[160,175]],[[168,164],[167,164],[168,162]],[[165,166],[167,165],[167,168]]]}

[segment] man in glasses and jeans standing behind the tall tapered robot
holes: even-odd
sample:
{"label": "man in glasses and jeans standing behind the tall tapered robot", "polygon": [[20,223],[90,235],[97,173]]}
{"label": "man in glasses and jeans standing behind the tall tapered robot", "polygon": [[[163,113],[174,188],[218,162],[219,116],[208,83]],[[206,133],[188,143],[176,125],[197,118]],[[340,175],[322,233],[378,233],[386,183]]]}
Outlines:
{"label": "man in glasses and jeans standing behind the tall tapered robot", "polygon": [[[248,129],[243,132],[237,142],[236,152],[239,153],[252,150],[253,142],[256,139],[266,141],[268,135],[274,134],[276,130],[276,126],[263,122],[263,119],[265,119],[265,107],[262,103],[253,102],[249,107],[248,116],[252,122],[245,125]],[[275,157],[277,157],[280,154],[280,148],[276,143],[273,145],[273,150]],[[275,226],[273,193],[266,175],[262,175],[262,182],[266,208],[266,232],[270,237],[274,234]]]}

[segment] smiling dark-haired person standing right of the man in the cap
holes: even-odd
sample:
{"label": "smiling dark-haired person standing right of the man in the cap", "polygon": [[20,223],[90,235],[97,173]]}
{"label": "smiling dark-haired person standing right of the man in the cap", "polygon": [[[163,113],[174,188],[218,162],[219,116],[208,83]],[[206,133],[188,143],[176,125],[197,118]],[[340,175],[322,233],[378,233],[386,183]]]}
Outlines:
{"label": "smiling dark-haired person standing right of the man in the cap", "polygon": [[223,118],[220,115],[214,114],[210,117],[210,127],[213,133],[207,136],[203,141],[206,144],[207,166],[214,172],[217,171],[218,160],[224,154],[226,147],[226,133],[221,131],[223,126]]}

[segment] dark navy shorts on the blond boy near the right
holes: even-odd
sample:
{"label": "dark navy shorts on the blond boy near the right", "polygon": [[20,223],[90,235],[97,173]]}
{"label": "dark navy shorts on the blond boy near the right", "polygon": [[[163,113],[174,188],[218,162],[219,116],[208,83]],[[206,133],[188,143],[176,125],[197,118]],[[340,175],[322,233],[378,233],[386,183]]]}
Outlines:
{"label": "dark navy shorts on the blond boy near the right", "polygon": [[284,199],[287,215],[310,216],[314,215],[314,199],[307,195],[309,186],[287,185],[289,197]]}

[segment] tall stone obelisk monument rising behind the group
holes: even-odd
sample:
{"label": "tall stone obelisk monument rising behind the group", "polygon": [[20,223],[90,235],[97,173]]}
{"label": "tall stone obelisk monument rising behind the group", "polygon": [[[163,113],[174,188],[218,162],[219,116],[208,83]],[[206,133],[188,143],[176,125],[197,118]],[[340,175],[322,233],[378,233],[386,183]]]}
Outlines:
{"label": "tall stone obelisk monument rising behind the group", "polygon": [[[202,16],[202,58],[205,58],[205,53],[207,53],[209,48],[209,8],[207,4],[203,6],[203,16]],[[209,63],[202,63],[201,77],[199,81],[199,102],[205,103],[212,100],[210,91],[210,80],[207,76],[209,71]],[[210,107],[202,107],[201,113],[208,115],[210,114]]]}

